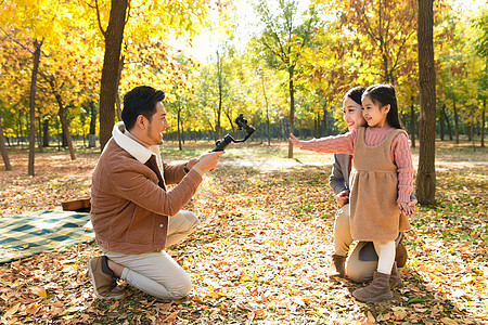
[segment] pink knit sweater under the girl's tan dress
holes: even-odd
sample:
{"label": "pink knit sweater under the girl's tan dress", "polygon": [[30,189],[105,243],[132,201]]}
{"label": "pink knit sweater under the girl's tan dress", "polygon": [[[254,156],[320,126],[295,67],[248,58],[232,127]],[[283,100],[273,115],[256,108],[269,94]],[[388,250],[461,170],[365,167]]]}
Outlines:
{"label": "pink knit sweater under the girl's tan dress", "polygon": [[[364,142],[367,145],[374,146],[380,144],[395,129],[367,128],[364,132]],[[314,151],[319,153],[339,153],[354,155],[356,147],[357,131],[347,132],[336,136],[326,136],[300,142],[303,150]],[[397,166],[398,173],[398,199],[397,202],[409,203],[410,194],[413,192],[413,165],[410,153],[409,140],[404,133],[400,133],[391,142],[391,161]]]}

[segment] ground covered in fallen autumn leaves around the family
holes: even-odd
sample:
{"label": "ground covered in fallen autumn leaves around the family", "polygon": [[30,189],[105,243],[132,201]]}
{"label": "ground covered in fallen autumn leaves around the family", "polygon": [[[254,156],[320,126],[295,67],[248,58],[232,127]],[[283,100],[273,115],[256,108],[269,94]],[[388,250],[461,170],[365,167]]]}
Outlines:
{"label": "ground covered in fallen autumn leaves around the family", "polygon": [[[193,152],[163,154],[182,159]],[[229,151],[227,164],[205,178],[187,207],[201,226],[168,250],[193,280],[185,299],[163,301],[129,286],[119,301],[95,299],[87,262],[100,250],[87,244],[0,265],[1,322],[488,324],[485,150],[439,147],[437,204],[419,208],[406,242],[406,287],[381,303],[360,303],[350,294],[359,285],[325,276],[335,211],[330,156],[296,153],[297,162],[282,154]],[[27,154],[11,155],[14,170],[0,171],[0,216],[89,195],[97,158],[38,154],[37,176],[29,178]]]}

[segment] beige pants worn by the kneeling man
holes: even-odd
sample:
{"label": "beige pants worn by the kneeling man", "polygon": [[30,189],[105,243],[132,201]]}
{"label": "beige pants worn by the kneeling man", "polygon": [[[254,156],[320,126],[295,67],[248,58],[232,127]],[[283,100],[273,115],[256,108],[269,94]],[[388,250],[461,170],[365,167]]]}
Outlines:
{"label": "beige pants worn by the kneeling man", "polygon": [[[195,213],[187,210],[168,219],[166,247],[183,240],[198,224]],[[144,253],[103,252],[124,266],[121,280],[151,296],[176,300],[187,296],[192,288],[190,276],[164,250]]]}

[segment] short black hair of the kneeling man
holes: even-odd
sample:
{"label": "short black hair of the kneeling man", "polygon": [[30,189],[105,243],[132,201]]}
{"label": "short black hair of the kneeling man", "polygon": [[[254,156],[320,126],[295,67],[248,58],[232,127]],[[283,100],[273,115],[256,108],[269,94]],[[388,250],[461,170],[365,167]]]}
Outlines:
{"label": "short black hair of the kneeling man", "polygon": [[139,86],[124,96],[124,109],[121,118],[126,130],[131,130],[139,115],[151,121],[156,113],[156,103],[165,99],[163,90],[156,90],[149,86]]}

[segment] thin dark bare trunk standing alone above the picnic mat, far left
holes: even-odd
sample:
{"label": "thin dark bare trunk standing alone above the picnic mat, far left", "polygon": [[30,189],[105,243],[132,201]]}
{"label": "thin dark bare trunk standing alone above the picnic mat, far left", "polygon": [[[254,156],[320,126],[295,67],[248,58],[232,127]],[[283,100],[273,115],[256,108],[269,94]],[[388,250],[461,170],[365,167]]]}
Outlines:
{"label": "thin dark bare trunk standing alone above the picnic mat, far left", "polygon": [[27,167],[28,176],[34,177],[34,155],[36,150],[36,86],[37,86],[37,73],[39,70],[40,63],[40,48],[42,47],[43,40],[40,42],[36,39],[34,41],[34,67],[33,76],[30,79],[30,95],[29,95],[29,120],[30,120],[30,131],[29,131],[29,162]]}

